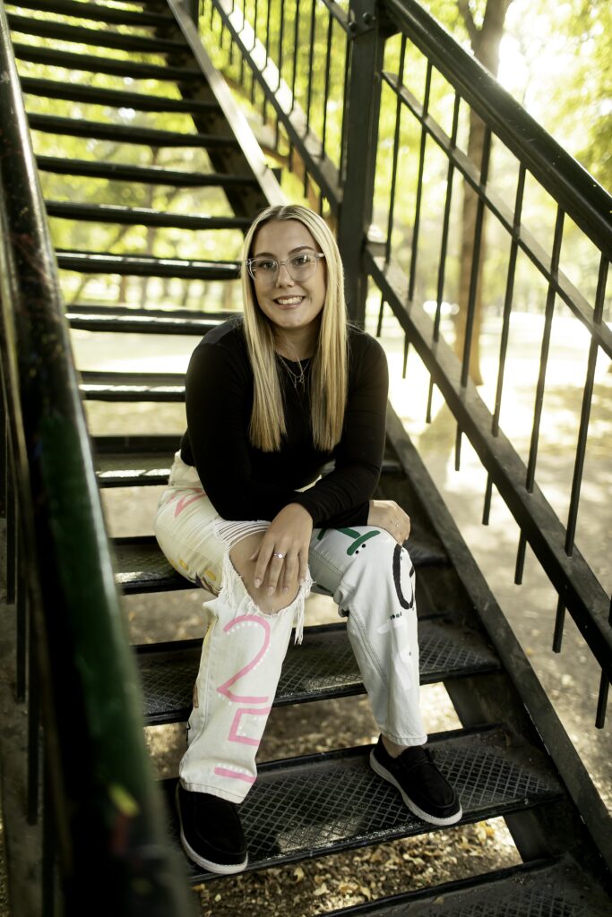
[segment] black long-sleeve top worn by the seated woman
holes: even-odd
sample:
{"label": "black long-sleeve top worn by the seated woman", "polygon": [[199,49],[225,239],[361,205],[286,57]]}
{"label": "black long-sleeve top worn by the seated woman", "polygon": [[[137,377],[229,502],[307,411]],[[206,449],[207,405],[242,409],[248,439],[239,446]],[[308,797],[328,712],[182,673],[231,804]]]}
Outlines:
{"label": "black long-sleeve top worn by the seated woman", "polygon": [[[298,374],[298,363],[289,367]],[[288,503],[299,503],[315,527],[367,524],[384,452],[384,350],[370,335],[350,328],[348,402],[342,436],[332,452],[313,444],[308,370],[302,386],[282,366],[287,432],[279,451],[263,452],[249,441],[253,374],[241,319],[217,326],[195,348],[185,381],[187,430],[181,457],[195,465],[223,518],[272,520]],[[330,459],[334,469],[300,492]]]}

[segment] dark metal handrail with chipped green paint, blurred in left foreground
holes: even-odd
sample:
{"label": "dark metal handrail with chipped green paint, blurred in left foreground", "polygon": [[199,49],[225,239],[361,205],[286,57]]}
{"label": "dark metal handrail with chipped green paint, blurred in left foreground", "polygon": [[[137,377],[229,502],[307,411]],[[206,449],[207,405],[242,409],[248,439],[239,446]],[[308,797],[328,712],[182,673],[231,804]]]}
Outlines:
{"label": "dark metal handrail with chipped green paint, blurred in left foreground", "polygon": [[28,707],[23,819],[43,822],[41,910],[55,912],[60,895],[66,914],[184,915],[192,901],[144,742],[4,7],[0,58],[2,503],[17,701]]}

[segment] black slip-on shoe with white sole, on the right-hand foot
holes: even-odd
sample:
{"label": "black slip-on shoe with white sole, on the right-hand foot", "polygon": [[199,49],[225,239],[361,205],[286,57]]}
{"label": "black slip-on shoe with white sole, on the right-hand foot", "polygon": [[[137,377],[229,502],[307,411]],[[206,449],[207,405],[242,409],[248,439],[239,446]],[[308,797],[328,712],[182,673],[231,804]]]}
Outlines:
{"label": "black slip-on shoe with white sole, on the right-hand foot", "polygon": [[426,746],[406,748],[399,757],[391,757],[382,736],[370,753],[370,767],[402,794],[406,806],[429,824],[454,824],[462,817],[457,793],[440,774]]}

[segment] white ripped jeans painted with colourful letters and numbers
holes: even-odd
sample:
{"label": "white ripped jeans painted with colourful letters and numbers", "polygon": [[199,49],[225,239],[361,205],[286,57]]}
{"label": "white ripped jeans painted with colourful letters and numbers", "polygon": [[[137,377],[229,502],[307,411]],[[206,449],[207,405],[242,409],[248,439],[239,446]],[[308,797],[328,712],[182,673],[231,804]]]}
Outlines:
{"label": "white ripped jeans painted with colourful letters and numbers", "polygon": [[[269,523],[228,522],[206,497],[197,471],[174,457],[154,531],[174,569],[215,598],[204,605],[206,635],[179,776],[185,790],[240,802],[255,782],[255,755],[295,625],[301,643],[310,588],[333,596],[373,715],[398,745],[427,741],[418,705],[414,567],[384,530],[315,529],[309,578],[286,608],[264,613],[246,591],[229,550]],[[310,579],[312,578],[312,579]]]}

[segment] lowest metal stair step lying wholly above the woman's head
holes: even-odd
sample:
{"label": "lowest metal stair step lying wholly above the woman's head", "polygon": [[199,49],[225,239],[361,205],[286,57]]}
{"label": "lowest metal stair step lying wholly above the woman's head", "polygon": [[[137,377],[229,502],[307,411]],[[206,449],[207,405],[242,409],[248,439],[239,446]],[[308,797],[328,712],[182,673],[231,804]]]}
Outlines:
{"label": "lowest metal stair step lying wholly above the woman's head", "polygon": [[220,175],[217,172],[184,172],[161,166],[132,166],[123,162],[94,160],[62,160],[55,156],[37,156],[40,171],[61,175],[83,175],[85,178],[105,178],[115,182],[142,182],[172,185],[178,188],[247,187],[257,188],[257,180],[249,175]]}

